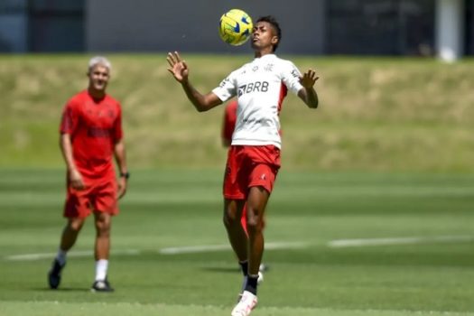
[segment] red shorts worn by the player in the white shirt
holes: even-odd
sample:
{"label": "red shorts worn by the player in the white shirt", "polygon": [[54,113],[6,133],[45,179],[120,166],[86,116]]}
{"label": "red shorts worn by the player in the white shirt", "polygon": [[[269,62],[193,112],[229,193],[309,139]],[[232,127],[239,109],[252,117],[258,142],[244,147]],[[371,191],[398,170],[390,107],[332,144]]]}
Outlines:
{"label": "red shorts worn by the player in the white shirt", "polygon": [[251,187],[272,192],[280,169],[280,149],[274,145],[230,146],[224,175],[224,198],[244,200]]}

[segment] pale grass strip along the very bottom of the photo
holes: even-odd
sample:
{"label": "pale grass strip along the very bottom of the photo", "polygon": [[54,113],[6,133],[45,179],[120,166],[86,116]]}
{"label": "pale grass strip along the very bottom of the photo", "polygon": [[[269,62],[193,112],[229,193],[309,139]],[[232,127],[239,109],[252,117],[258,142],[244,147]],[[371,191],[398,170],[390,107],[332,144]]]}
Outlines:
{"label": "pale grass strip along the very bottom of the photo", "polygon": [[[101,295],[101,294],[96,294]],[[107,294],[106,294],[107,295]],[[110,302],[2,302],[0,312],[8,316],[221,316],[230,314],[231,307],[140,304]],[[298,307],[261,307],[252,313],[255,316],[472,316],[472,312],[449,311],[381,311],[381,310],[332,310]]]}

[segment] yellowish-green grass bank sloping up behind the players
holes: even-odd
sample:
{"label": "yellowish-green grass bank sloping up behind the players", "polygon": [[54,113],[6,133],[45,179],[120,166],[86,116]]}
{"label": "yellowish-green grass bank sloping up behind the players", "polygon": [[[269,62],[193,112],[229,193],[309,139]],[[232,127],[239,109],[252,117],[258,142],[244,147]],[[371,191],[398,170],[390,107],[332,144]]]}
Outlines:
{"label": "yellowish-green grass bank sloping up behind the players", "polygon": [[[222,107],[197,113],[166,52],[109,57],[130,167],[221,165]],[[201,92],[250,56],[183,54]],[[283,103],[283,165],[313,171],[474,172],[474,60],[282,56],[315,68],[320,108]],[[0,55],[0,167],[58,167],[66,100],[87,85],[88,56]],[[34,159],[32,159],[34,157]]]}

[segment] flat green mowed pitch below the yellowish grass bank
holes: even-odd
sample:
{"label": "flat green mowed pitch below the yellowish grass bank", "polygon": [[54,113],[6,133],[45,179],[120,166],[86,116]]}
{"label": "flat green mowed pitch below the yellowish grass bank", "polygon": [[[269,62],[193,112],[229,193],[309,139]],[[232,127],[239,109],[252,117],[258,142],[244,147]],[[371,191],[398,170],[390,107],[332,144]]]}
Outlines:
{"label": "flat green mowed pitch below the yellowish grass bank", "polygon": [[[63,172],[0,171],[0,315],[228,315],[240,274],[221,172],[134,172],[113,227],[111,294],[90,293],[88,222],[47,288]],[[285,172],[268,207],[256,316],[474,315],[474,176]]]}

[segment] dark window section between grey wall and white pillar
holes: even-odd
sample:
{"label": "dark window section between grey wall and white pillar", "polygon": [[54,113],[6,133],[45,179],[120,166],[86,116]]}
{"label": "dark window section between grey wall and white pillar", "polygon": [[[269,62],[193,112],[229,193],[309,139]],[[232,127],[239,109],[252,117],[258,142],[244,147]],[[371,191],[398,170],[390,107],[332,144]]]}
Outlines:
{"label": "dark window section between grey wall and white pillar", "polygon": [[331,54],[431,55],[434,0],[328,1]]}

